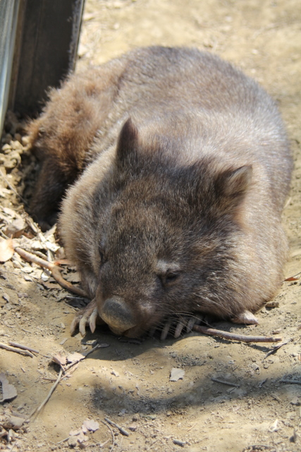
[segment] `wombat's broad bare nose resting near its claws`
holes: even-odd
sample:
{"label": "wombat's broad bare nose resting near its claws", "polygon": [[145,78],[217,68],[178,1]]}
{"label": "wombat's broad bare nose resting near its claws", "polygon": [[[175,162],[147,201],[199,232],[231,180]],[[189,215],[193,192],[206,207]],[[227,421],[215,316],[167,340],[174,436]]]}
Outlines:
{"label": "wombat's broad bare nose resting near its claws", "polygon": [[137,324],[132,312],[121,297],[106,299],[99,314],[109,325],[111,331],[116,334],[122,334]]}

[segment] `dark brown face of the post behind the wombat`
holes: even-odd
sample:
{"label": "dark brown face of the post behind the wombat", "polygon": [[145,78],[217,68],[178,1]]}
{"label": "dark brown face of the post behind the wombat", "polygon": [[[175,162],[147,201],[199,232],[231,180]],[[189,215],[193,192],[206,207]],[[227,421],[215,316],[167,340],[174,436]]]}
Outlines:
{"label": "dark brown face of the post behind the wombat", "polygon": [[73,71],[84,1],[20,1],[9,109],[36,115],[47,88]]}

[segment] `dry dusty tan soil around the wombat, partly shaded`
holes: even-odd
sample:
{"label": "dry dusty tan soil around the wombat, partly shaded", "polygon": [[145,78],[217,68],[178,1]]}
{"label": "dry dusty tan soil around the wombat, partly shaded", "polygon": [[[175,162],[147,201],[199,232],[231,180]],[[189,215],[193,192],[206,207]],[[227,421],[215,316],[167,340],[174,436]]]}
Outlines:
{"label": "dry dusty tan soil around the wombat, partly shaded", "polygon": [[[300,18],[299,0],[87,0],[77,66],[85,69],[138,45],[190,45],[232,61],[264,85],[278,102],[295,156],[293,188],[283,218],[290,240],[286,276],[301,270]],[[24,174],[35,170],[22,133],[22,124],[13,117],[8,120],[0,153],[2,234],[8,234],[8,224],[25,218],[14,190],[22,192]],[[32,227],[26,223],[23,228],[27,238],[18,240],[37,242]],[[264,307],[259,326],[215,325],[249,335],[278,332],[286,344],[266,356],[273,345],[197,333],[142,343],[123,342],[100,329],[83,339],[70,337],[74,309],[65,290],[16,254],[0,272],[0,341],[39,350],[30,357],[0,349],[0,373],[18,392],[0,405],[0,425],[6,427],[0,427],[0,449],[301,451],[299,280],[283,283],[278,307]],[[32,415],[59,375],[51,357],[85,354],[94,340],[109,346],[82,360],[44,408]],[[170,380],[173,368],[185,371],[178,381]],[[0,400],[4,386],[0,383]],[[11,415],[25,420],[20,429],[9,430]],[[105,417],[128,436],[109,426]],[[99,428],[76,436],[88,419],[99,422]]]}

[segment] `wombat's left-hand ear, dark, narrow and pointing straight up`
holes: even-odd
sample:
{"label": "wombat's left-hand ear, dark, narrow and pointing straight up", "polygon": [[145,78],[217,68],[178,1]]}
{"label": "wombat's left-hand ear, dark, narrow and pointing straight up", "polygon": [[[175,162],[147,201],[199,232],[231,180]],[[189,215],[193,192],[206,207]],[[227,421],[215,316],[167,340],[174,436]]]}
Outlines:
{"label": "wombat's left-hand ear, dark, narrow and pointing straight up", "polygon": [[138,141],[138,129],[135,127],[132,119],[128,119],[123,124],[121,133],[119,134],[117,143],[117,162],[118,165],[123,165],[128,162],[135,161],[136,148]]}

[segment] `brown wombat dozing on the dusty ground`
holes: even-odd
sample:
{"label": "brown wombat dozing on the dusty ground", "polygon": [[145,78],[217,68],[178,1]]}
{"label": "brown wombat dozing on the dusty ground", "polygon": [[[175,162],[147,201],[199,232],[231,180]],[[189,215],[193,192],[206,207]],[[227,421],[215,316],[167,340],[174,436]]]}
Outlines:
{"label": "brown wombat dozing on the dusty ground", "polygon": [[197,313],[256,322],[281,284],[292,168],[257,83],[197,49],[135,49],[52,90],[30,136],[42,226],[77,179],[59,231],[92,302],[72,331],[98,320],[165,338],[173,316],[178,336]]}

